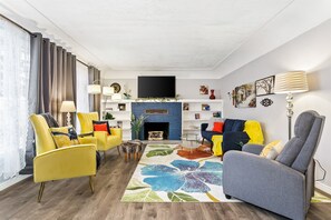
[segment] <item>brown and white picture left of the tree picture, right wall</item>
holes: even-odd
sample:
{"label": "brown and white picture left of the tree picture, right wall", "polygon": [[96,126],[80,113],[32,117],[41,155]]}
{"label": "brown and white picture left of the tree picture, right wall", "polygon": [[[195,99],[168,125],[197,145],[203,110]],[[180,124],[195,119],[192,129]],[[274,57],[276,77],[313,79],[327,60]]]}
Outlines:
{"label": "brown and white picture left of the tree picture, right wall", "polygon": [[246,83],[234,89],[235,108],[255,108],[256,93],[255,84]]}

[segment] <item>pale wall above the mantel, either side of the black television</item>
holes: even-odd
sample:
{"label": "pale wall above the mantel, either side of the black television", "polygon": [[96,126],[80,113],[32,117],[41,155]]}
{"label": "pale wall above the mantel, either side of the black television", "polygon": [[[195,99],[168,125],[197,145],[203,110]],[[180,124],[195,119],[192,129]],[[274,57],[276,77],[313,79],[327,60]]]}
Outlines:
{"label": "pale wall above the mantel, either side of the black television", "polygon": [[[162,76],[162,74],[159,74]],[[166,73],[164,76],[167,76]],[[120,84],[120,93],[124,92],[124,88],[127,87],[132,90],[133,98],[137,98],[137,80],[136,79],[109,79],[107,74],[103,76],[103,84],[110,86],[114,82]],[[176,93],[181,99],[208,99],[210,96],[199,94],[199,86],[206,84],[211,89],[220,88],[218,80],[212,79],[176,79]],[[215,89],[215,96],[221,98],[220,89]]]}

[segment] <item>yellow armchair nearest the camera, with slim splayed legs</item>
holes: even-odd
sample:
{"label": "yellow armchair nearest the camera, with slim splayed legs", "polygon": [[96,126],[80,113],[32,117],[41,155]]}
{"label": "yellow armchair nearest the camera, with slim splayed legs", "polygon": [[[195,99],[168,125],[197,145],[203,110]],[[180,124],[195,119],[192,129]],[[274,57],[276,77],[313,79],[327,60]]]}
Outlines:
{"label": "yellow armchair nearest the camera, with slim splayed legs", "polygon": [[[42,116],[30,116],[35,134],[37,156],[33,159],[33,180],[40,182],[38,202],[45,189],[45,182],[77,177],[89,177],[94,192],[93,177],[96,174],[96,146],[77,144],[56,148],[49,127]],[[90,141],[93,141],[90,139]]]}

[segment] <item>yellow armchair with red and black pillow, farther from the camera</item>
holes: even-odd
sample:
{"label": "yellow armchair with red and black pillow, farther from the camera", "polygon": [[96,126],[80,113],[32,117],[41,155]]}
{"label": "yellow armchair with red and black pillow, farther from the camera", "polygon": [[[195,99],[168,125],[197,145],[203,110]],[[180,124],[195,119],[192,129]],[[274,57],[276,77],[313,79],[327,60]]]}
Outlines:
{"label": "yellow armchair with red and black pillow, farther from the camera", "polygon": [[93,133],[97,139],[98,151],[104,151],[106,156],[107,150],[117,147],[118,154],[120,154],[119,146],[123,141],[123,131],[120,128],[110,128],[111,134],[108,136],[106,131],[94,131],[93,121],[99,120],[98,112],[78,112],[77,116],[80,122],[81,133]]}

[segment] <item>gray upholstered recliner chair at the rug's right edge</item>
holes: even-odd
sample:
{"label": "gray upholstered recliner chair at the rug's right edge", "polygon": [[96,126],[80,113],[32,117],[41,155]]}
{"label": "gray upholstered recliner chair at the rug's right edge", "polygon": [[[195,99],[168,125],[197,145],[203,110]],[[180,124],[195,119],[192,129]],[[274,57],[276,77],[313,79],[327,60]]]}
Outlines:
{"label": "gray upholstered recliner chair at the rug's right edge", "polygon": [[223,190],[231,197],[291,219],[304,219],[314,193],[314,160],[325,118],[301,113],[275,160],[260,157],[263,146],[246,144],[223,160]]}

